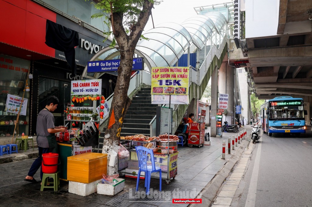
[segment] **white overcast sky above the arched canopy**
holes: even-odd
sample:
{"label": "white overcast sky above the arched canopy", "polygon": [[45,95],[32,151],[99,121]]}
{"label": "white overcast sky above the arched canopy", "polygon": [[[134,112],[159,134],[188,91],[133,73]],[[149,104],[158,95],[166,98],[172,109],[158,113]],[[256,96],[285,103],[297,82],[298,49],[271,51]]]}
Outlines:
{"label": "white overcast sky above the arched canopy", "polygon": [[[156,26],[164,22],[181,24],[184,20],[196,15],[194,7],[210,6],[226,2],[232,2],[232,0],[163,0],[160,5],[156,5],[152,9],[154,25]],[[153,29],[151,17],[149,17],[144,31],[150,29]]]}

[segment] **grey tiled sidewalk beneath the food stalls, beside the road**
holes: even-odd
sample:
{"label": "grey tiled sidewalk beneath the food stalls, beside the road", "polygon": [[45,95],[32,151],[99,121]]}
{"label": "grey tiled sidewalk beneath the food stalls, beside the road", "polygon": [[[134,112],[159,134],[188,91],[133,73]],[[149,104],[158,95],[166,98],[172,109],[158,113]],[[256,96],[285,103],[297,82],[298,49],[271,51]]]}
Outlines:
{"label": "grey tiled sidewalk beneath the food stalls, beside the road", "polygon": [[[246,129],[248,132],[252,128],[249,125]],[[205,131],[210,133],[210,127]],[[169,185],[163,180],[161,192],[159,192],[159,179],[152,178],[151,196],[145,195],[143,180],[139,183],[139,191],[135,192],[136,179],[132,178],[126,178],[125,189],[115,196],[95,193],[83,197],[71,194],[68,192],[68,182],[64,181],[61,181],[59,191],[54,192],[52,189],[40,191],[40,182],[33,184],[23,180],[33,159],[3,163],[0,165],[2,172],[0,206],[188,206],[188,204],[172,204],[172,198],[196,197],[203,199],[203,204],[196,206],[210,206],[222,182],[239,160],[240,151],[245,148],[243,146],[249,142],[243,140],[235,150],[231,148],[231,154],[227,154],[226,149],[226,159],[221,159],[222,141],[225,140],[227,143],[227,138],[235,134],[223,133],[222,137],[210,137],[211,145],[201,148],[179,145],[178,175]],[[39,181],[39,172],[34,177]],[[220,181],[220,179],[221,183],[218,184],[216,180]],[[213,196],[212,199],[207,200],[206,194]]]}

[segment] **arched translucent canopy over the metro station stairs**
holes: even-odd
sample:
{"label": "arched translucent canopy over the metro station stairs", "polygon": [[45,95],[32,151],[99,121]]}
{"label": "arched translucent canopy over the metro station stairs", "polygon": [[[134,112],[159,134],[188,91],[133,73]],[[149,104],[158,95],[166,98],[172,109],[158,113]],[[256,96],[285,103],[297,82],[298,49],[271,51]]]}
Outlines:
{"label": "arched translucent canopy over the metro station stairs", "polygon": [[[143,33],[149,40],[140,40],[135,53],[146,58],[145,63],[149,70],[151,67],[171,67],[187,52],[191,44],[202,49],[215,32],[222,32],[225,24],[226,17],[218,11],[192,16],[181,25],[173,22],[162,23]],[[107,47],[97,53],[91,61],[118,59],[119,54],[117,48]]]}

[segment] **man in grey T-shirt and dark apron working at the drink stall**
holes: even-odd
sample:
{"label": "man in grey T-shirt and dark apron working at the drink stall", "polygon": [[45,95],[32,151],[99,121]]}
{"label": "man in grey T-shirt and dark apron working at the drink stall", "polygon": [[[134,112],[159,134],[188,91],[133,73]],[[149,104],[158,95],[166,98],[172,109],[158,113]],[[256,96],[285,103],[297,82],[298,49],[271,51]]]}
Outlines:
{"label": "man in grey T-shirt and dark apron working at the drink stall", "polygon": [[[46,107],[42,109],[37,117],[37,145],[39,150],[39,157],[35,159],[32,163],[32,167],[29,169],[28,175],[25,177],[25,181],[37,182],[33,177],[37,170],[41,167],[42,154],[44,153],[57,153],[56,144],[56,132],[64,132],[65,128],[54,127],[54,117],[51,112],[53,112],[57,105],[59,104],[59,99],[56,96],[50,96],[47,99]],[[42,170],[40,169],[40,177],[42,180]]]}

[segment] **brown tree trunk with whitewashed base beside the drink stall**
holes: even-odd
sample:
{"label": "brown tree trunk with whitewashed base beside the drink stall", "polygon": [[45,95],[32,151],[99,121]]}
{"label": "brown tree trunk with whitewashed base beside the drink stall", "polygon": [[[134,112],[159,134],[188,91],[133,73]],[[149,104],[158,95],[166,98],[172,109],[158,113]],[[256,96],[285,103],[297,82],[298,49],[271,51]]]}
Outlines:
{"label": "brown tree trunk with whitewashed base beside the drink stall", "polygon": [[[110,160],[112,150],[115,150],[117,152],[117,146],[120,142],[120,131],[122,123],[124,121],[124,116],[131,104],[131,99],[129,99],[127,93],[130,84],[134,49],[149,19],[152,8],[153,3],[149,2],[149,0],[144,0],[144,12],[142,11],[140,13],[139,19],[137,23],[133,25],[133,29],[131,29],[129,35],[124,30],[123,13],[115,12],[113,13],[113,18],[111,18],[113,19],[112,25],[115,29],[114,36],[120,50],[120,64],[118,67],[117,83],[114,90],[114,97],[112,100],[109,114],[110,120],[112,111],[114,110],[115,124],[110,127],[110,121],[108,121],[105,136],[108,136],[109,134],[110,137],[104,138],[103,142],[103,153],[108,154],[108,162]],[[115,161],[115,167],[107,166],[108,175],[114,175],[118,173],[117,159]]]}

